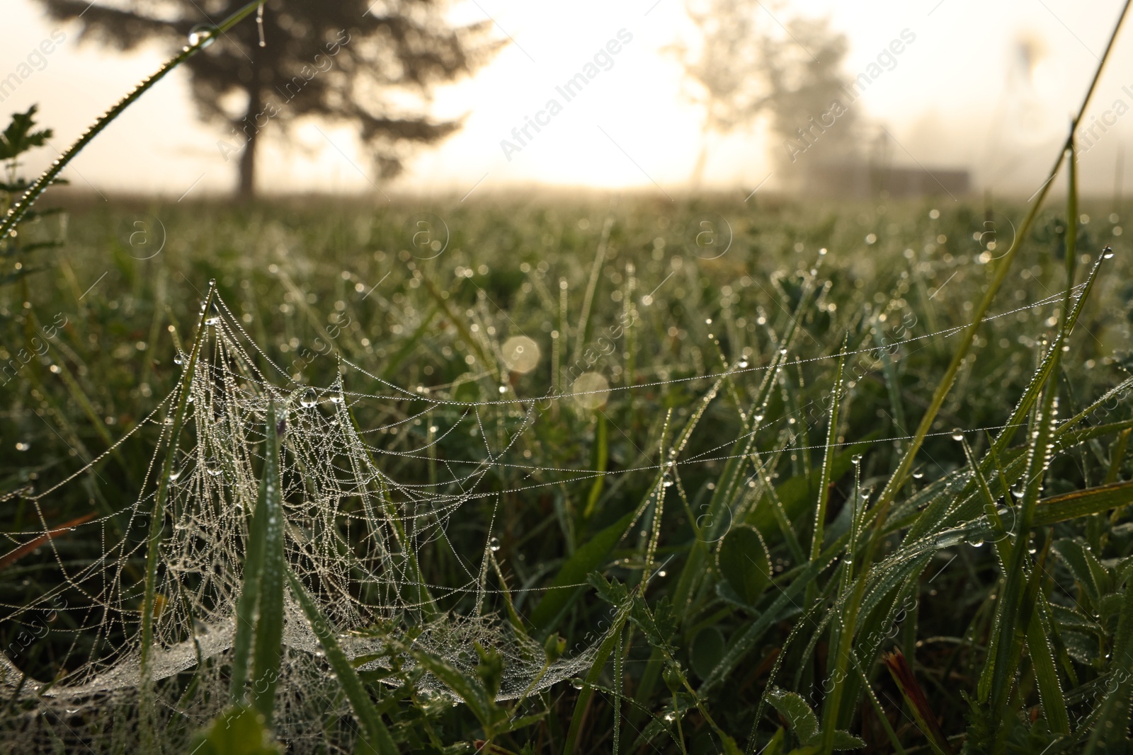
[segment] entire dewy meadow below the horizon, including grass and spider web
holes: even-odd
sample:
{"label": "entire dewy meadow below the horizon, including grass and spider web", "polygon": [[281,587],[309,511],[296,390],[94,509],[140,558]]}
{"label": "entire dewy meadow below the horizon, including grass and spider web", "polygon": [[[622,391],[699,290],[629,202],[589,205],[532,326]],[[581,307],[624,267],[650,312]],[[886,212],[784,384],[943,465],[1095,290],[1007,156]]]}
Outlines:
{"label": "entire dewy meadow below the horizon, including grass and spider web", "polygon": [[49,194],[3,740],[1124,752],[1133,285],[1071,199]]}

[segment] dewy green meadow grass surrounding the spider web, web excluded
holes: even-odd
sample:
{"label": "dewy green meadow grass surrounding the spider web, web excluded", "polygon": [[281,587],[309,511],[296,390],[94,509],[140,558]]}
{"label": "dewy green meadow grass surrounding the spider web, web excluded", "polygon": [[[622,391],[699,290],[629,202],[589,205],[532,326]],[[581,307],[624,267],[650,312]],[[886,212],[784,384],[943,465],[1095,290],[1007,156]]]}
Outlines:
{"label": "dewy green meadow grass surrounding the spider web, web excluded", "polygon": [[[827,731],[828,744],[847,744],[852,735],[876,752],[959,749],[962,740],[969,752],[1048,745],[1051,753],[1079,752],[1091,737],[1100,738],[1094,752],[1109,752],[1101,740],[1115,735],[1096,722],[1128,724],[1130,679],[1115,659],[1130,652],[1123,585],[1133,530],[1122,507],[1130,496],[1126,488],[1074,491],[1130,479],[1128,402],[1119,396],[1063,421],[1125,379],[1133,291],[1124,283],[1122,238],[1114,235],[1119,220],[1089,204],[1081,212],[1091,220],[1077,229],[1076,283],[1105,243],[1117,254],[1105,260],[1070,351],[1048,364],[1057,419],[1043,419],[1054,414],[1056,392],[1032,389],[1031,406],[1015,411],[1020,427],[1002,429],[1033,388],[1045,343],[1064,319],[1067,223],[1045,211],[1014,263],[1021,275],[1008,276],[995,317],[977,332],[908,479],[889,492],[884,520],[877,497],[962,337],[954,328],[971,320],[973,300],[994,275],[973,240],[982,212],[968,205],[750,207],[727,197],[675,206],[650,197],[616,206],[579,197],[438,204],[429,209],[452,238],[431,260],[406,251],[412,248],[406,220],[420,209],[410,204],[75,206],[57,269],[27,278],[31,309],[22,311],[18,288],[2,293],[9,354],[26,337],[28,314],[40,323],[57,312],[67,318],[48,340],[46,357],[59,369],[33,360],[2,388],[2,487],[43,490],[100,461],[35,504],[10,499],[3,529],[42,532],[92,511],[112,522],[122,501],[137,498],[161,426],[143,428],[112,454],[104,453],[105,438],[122,437],[173,391],[182,372],[173,357],[194,342],[198,304],[214,278],[220,300],[266,358],[296,366],[310,385],[331,385],[341,355],[410,389],[448,386],[440,394],[454,402],[492,401],[500,385],[520,397],[553,386],[569,393],[571,359],[576,374],[602,372],[614,388],[600,411],[569,397],[544,402],[508,463],[480,482],[499,498],[466,504],[448,529],[449,546],[418,554],[424,583],[462,584],[460,559],[476,563],[488,538],[497,538],[491,554],[499,570],[488,570],[485,610],[503,621],[514,617],[538,642],[562,635],[568,655],[596,647],[605,662],[583,675],[581,689],[559,684],[527,696],[506,714],[527,724],[511,730],[493,709],[514,701],[476,698],[442,710],[414,692],[409,671],[394,687],[363,675],[401,747],[472,743],[492,729],[499,752],[557,753],[569,743],[574,752],[608,752],[614,737],[622,752],[716,752],[731,743],[758,752],[773,737],[786,752],[820,746]],[[997,211],[1021,215],[1015,207]],[[726,217],[734,232],[729,251],[710,260],[687,243],[687,229],[707,212]],[[167,243],[142,261],[122,229],[144,216],[161,218]],[[52,232],[53,222],[41,221],[42,232]],[[591,266],[607,223],[604,258]],[[869,233],[875,243],[866,243]],[[1040,301],[1047,303],[1034,306]],[[508,377],[497,349],[518,334],[538,344],[540,359],[531,372]],[[351,392],[390,393],[358,372],[348,380]],[[424,402],[369,401],[352,410],[359,427],[373,428],[411,418],[418,406]],[[370,436],[383,452],[435,441],[427,454],[380,454],[376,463],[399,481],[443,484],[443,460],[484,456],[482,445],[469,444],[462,411],[442,405],[424,421]],[[516,431],[514,406],[480,411],[491,446]],[[433,424],[459,432],[437,439]],[[953,439],[954,428],[964,430],[966,449]],[[1053,434],[1042,474],[1041,454],[1028,451],[1029,428],[1039,440]],[[17,443],[29,448],[12,453]],[[658,466],[670,460],[673,466]],[[970,460],[978,462],[974,478]],[[585,470],[604,471],[596,478]],[[1003,509],[1004,487],[1028,477],[1037,482],[1020,507]],[[514,492],[531,484],[539,487]],[[825,516],[816,521],[821,500]],[[997,506],[1007,531],[1013,517],[1031,512],[1030,548],[996,530],[985,513]],[[637,523],[619,540],[631,512]],[[752,546],[727,551],[744,540],[733,532],[752,532],[764,543],[769,580],[744,575],[736,554]],[[8,549],[27,539],[14,535]],[[995,544],[972,547],[982,541]],[[874,543],[868,573],[867,543]],[[56,554],[83,564],[102,544],[63,534],[53,549],[12,560],[3,567],[3,602],[29,604],[56,586]],[[758,558],[750,563],[766,572]],[[564,568],[570,576],[556,583]],[[631,590],[538,590],[585,582],[576,575],[594,569]],[[851,635],[846,606],[859,593]],[[16,654],[33,678],[97,655],[94,637],[67,630],[68,621],[82,625],[83,614],[82,598],[66,594],[71,610]],[[1017,594],[1029,614],[1008,617],[1007,594]],[[457,593],[440,609],[468,615],[475,602]],[[613,632],[605,623],[611,610]],[[19,647],[26,616],[22,621],[3,625],[6,646]],[[130,625],[120,630],[128,634]],[[411,658],[395,624],[374,630]],[[1040,637],[1048,640],[1041,647]],[[838,647],[852,649],[841,667]],[[903,652],[945,743],[930,744],[917,723],[920,711],[908,702],[915,694],[886,672],[881,654],[891,650]],[[444,667],[435,666],[442,662],[417,667],[443,678]],[[457,677],[450,687],[461,694]],[[767,694],[773,689],[799,700]],[[469,686],[461,696],[476,694]],[[817,733],[801,705],[817,714]]]}

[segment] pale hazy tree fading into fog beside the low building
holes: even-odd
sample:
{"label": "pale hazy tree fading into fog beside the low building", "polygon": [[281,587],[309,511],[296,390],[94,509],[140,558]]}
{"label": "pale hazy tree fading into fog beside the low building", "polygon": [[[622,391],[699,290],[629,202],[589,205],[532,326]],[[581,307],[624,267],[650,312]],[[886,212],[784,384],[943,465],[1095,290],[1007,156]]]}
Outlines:
{"label": "pale hazy tree fading into fog beside the low building", "polygon": [[[697,44],[695,51],[688,44],[673,50],[704,109],[693,183],[702,177],[713,134],[730,134],[769,114],[778,144],[798,138],[798,130],[826,113],[833,101],[845,100],[841,68],[846,40],[825,20],[796,17],[781,24],[760,0],[688,0],[685,11]],[[852,115],[826,140],[830,147],[851,144]]]}

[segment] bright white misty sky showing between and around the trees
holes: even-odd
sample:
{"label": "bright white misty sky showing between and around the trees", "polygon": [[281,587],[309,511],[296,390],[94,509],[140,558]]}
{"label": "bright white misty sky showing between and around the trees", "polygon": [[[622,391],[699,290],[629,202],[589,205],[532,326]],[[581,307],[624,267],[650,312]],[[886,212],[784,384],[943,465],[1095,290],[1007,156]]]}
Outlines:
{"label": "bright white misty sky showing between and around the trees", "polygon": [[[8,76],[53,26],[32,0],[0,0],[0,78]],[[768,7],[773,7],[769,3]],[[847,74],[857,74],[902,29],[917,35],[897,67],[862,96],[870,120],[900,141],[898,163],[968,166],[977,186],[998,192],[1037,188],[1076,110],[1097,58],[1105,49],[1121,0],[799,0],[775,16],[828,15],[851,41]],[[662,49],[689,32],[681,0],[463,1],[460,18],[491,15],[510,44],[471,79],[438,93],[438,114],[468,113],[465,128],[440,147],[423,151],[393,189],[463,194],[531,183],[603,188],[676,189],[685,183],[700,147],[700,113],[682,94],[681,70]],[[250,23],[250,22],[248,22]],[[121,55],[75,43],[75,29],[0,103],[0,118],[40,103],[41,122],[56,129],[62,149],[103,110],[161,63],[156,48]],[[554,87],[627,29],[633,40],[521,153],[509,162],[500,140],[534,115]],[[1030,71],[1019,61],[1019,41],[1043,50]],[[269,44],[271,41],[269,40]],[[1122,86],[1130,87],[1128,93]],[[1096,95],[1098,117],[1116,98],[1133,106],[1133,31],[1118,40]],[[557,97],[562,101],[561,97]],[[270,190],[364,190],[369,185],[349,130],[323,129],[350,160],[313,127],[290,148],[267,145],[259,183]],[[235,160],[216,148],[222,134],[202,126],[187,79],[159,83],[87,147],[69,169],[70,180],[100,190],[177,197],[224,191],[235,182]],[[1121,145],[1133,147],[1133,113],[1083,157],[1088,190],[1108,194]],[[718,187],[755,188],[770,170],[761,131],[713,140],[706,180]],[[33,168],[54,154],[43,151]],[[1131,149],[1133,152],[1133,149]],[[1133,154],[1131,154],[1133,163]],[[1133,170],[1126,170],[1126,173]],[[1133,181],[1130,181],[1133,183]]]}

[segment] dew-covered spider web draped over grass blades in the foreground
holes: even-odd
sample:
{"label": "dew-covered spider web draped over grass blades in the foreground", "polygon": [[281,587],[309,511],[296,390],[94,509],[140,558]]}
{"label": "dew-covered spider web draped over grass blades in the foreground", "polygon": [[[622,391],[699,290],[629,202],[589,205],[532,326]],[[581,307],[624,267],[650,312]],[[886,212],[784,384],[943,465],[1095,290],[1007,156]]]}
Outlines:
{"label": "dew-covered spider web draped over grass blades in the foreground", "polygon": [[[1051,297],[1030,307],[1055,300]],[[539,421],[536,404],[573,394],[520,398],[509,388],[511,393],[502,393],[499,400],[453,401],[445,397],[451,392],[409,391],[380,380],[344,360],[331,385],[303,386],[247,336],[222,301],[216,300],[215,307],[206,321],[201,358],[188,381],[188,411],[170,475],[159,558],[151,662],[156,679],[153,694],[157,696],[168,730],[174,732],[171,736],[187,740],[228,702],[225,659],[241,590],[246,514],[255,506],[257,474],[263,467],[261,455],[270,398],[278,407],[282,406],[278,410],[281,419],[276,430],[282,441],[286,559],[339,629],[348,657],[382,653],[386,644],[375,627],[386,627],[385,630],[397,634],[411,624],[421,629],[415,640],[419,647],[466,671],[471,671],[477,662],[476,643],[501,652],[502,698],[544,689],[589,667],[600,637],[580,643],[543,672],[542,645],[516,632],[491,610],[488,598],[500,592],[487,578],[494,572],[489,568],[496,549],[492,537],[494,518],[489,520],[487,541],[480,552],[455,552],[448,532],[469,517],[476,517],[483,525],[484,512],[493,517],[494,506],[504,494],[522,496],[535,488],[602,474],[656,471],[661,469],[658,464],[650,462],[605,472],[534,467],[517,460],[517,441]],[[932,335],[948,337],[957,332],[959,328],[949,328]],[[182,354],[177,361],[184,369],[189,360]],[[780,360],[777,369],[783,363]],[[748,367],[747,361],[736,360],[729,372],[756,369],[764,368]],[[695,379],[710,385],[719,377],[701,375]],[[383,384],[387,394],[347,389],[351,383],[375,381]],[[705,401],[715,396],[714,388],[706,388]],[[39,541],[53,557],[58,577],[49,583],[58,586],[27,604],[3,606],[5,618],[28,627],[50,621],[50,632],[68,635],[69,650],[57,663],[63,669],[60,676],[49,683],[26,677],[22,671],[27,666],[26,659],[11,647],[6,649],[0,657],[0,686],[17,724],[0,737],[37,744],[92,741],[100,737],[133,740],[130,732],[136,728],[142,686],[138,626],[143,565],[151,531],[148,520],[178,401],[174,391],[114,448],[53,488],[23,492],[34,508],[40,529],[9,533],[8,555]],[[407,415],[407,410],[412,413]],[[359,417],[369,422],[368,429],[359,429]],[[785,418],[768,420],[760,427],[780,421],[785,423]],[[393,434],[418,422],[428,428],[425,443],[404,451],[390,447]],[[93,561],[69,560],[53,537],[58,531],[48,524],[44,503],[61,488],[82,484],[83,478],[96,474],[94,465],[101,458],[138,428],[152,424],[161,428],[162,440],[150,462],[142,495],[128,504],[111,501],[111,514],[73,527],[66,538],[97,541],[102,547],[101,557]],[[758,429],[749,428],[746,432]],[[467,455],[438,457],[440,441],[452,432],[469,439],[463,444]],[[893,440],[881,438],[871,443]],[[682,464],[729,458],[730,445],[671,460],[665,467],[675,472]],[[755,451],[750,455],[757,457],[761,453]],[[423,460],[432,463],[433,479],[417,472],[419,463],[406,467]],[[519,486],[503,490],[501,478],[494,477],[502,467],[534,471],[539,477],[528,473]],[[756,477],[749,482],[751,487],[756,486]],[[630,526],[628,532],[633,530]],[[419,556],[432,548],[446,548],[455,556],[462,582],[424,582],[418,572]],[[577,585],[564,589],[573,586]],[[510,587],[513,593],[522,591],[516,585]],[[286,654],[275,728],[295,752],[307,752],[325,746],[326,733],[318,722],[327,717],[340,717],[346,728],[352,724],[347,703],[322,658],[317,637],[292,598],[288,595],[286,601]],[[56,620],[58,617],[65,620]],[[409,659],[404,660],[411,666]],[[387,659],[380,658],[360,668],[387,664]],[[191,684],[185,683],[186,675],[193,676]],[[420,685],[426,696],[453,697],[427,675]]]}

